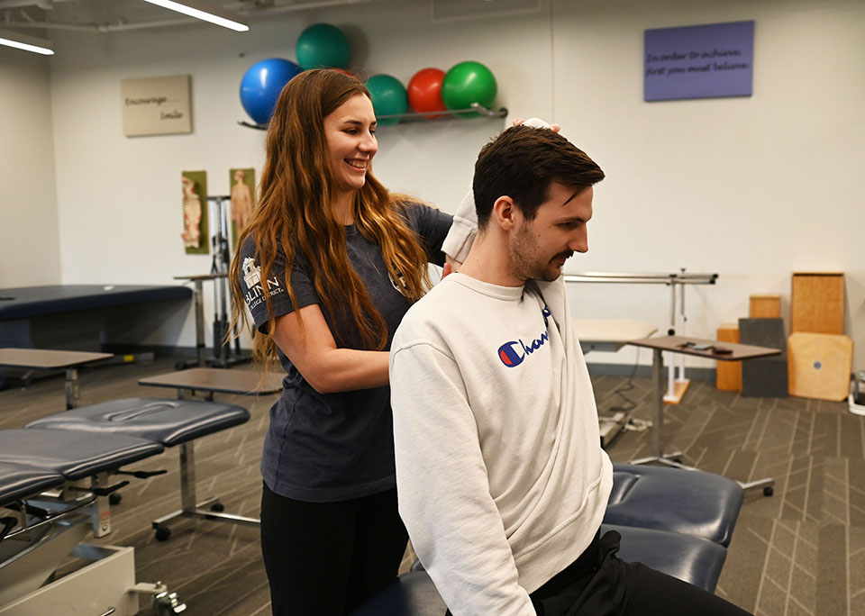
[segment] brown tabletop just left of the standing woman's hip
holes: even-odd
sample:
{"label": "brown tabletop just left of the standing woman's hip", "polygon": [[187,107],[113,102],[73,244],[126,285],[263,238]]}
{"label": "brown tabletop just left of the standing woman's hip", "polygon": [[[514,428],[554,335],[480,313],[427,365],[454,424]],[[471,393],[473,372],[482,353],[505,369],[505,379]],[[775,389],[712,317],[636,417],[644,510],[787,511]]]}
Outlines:
{"label": "brown tabletop just left of the standing woman's hip", "polygon": [[282,391],[282,379],[285,376],[281,367],[270,372],[263,382],[258,370],[197,367],[148,376],[140,379],[138,384],[222,394],[274,394]]}

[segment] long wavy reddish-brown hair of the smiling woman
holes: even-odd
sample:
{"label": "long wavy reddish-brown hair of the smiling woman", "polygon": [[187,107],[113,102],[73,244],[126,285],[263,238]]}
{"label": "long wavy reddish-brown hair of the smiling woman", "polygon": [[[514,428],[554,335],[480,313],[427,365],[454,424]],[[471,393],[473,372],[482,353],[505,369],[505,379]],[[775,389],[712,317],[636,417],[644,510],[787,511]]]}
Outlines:
{"label": "long wavy reddish-brown hair of the smiling woman", "polygon": [[[238,250],[230,268],[233,300],[230,331],[248,324],[240,286],[240,247],[251,237],[256,246],[255,260],[261,267],[270,332],[274,331],[276,319],[266,285],[274,276],[271,271],[274,260],[278,253],[285,256],[286,271],[278,273],[279,282],[286,285],[291,302],[296,305],[290,272],[299,252],[311,264],[315,292],[323,310],[353,318],[368,349],[386,348],[387,324],[351,267],[345,227],[332,208],[334,179],[324,118],[356,95],[369,97],[369,91],[355,77],[332,69],[305,71],[293,77],[279,95],[265,144],[259,204],[238,238]],[[360,234],[381,248],[391,280],[399,281],[405,297],[414,302],[431,283],[426,252],[400,214],[405,199],[405,195],[389,194],[368,168],[366,182],[355,194],[353,213]],[[333,333],[339,343],[337,332]],[[253,358],[269,367],[277,358],[276,344],[269,335],[254,328],[252,335]]]}

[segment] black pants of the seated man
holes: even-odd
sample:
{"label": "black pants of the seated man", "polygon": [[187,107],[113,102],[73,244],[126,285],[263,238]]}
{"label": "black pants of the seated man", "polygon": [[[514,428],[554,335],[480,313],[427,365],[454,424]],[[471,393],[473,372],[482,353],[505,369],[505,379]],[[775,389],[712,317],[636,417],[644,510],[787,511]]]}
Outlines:
{"label": "black pants of the seated man", "polygon": [[532,593],[538,616],[747,616],[702,588],[619,560],[620,539],[615,530],[596,536],[577,560]]}

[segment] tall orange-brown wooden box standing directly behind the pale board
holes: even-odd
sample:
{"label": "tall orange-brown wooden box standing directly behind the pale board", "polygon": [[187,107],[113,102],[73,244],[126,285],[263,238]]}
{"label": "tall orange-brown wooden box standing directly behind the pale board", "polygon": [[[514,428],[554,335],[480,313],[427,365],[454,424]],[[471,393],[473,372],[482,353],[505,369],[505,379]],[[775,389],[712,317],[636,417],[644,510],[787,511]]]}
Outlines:
{"label": "tall orange-brown wooden box standing directly behind the pale board", "polygon": [[794,272],[790,333],[844,333],[844,275]]}

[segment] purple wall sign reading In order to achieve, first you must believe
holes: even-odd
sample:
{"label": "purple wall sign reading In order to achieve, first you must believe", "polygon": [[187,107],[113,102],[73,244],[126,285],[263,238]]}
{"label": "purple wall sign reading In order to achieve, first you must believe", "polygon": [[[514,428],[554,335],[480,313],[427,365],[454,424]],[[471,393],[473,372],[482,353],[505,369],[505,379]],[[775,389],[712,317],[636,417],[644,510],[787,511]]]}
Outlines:
{"label": "purple wall sign reading In order to achieve, first you must believe", "polygon": [[753,22],[646,31],[646,101],[750,96],[753,72]]}

